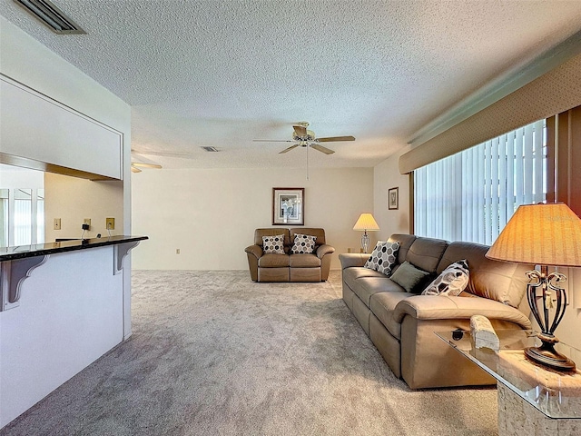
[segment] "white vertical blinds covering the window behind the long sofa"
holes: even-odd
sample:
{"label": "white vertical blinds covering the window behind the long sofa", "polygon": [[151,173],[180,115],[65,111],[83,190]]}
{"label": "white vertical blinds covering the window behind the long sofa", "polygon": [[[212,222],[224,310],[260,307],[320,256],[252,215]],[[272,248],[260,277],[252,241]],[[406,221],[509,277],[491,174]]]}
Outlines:
{"label": "white vertical blinds covering the window behind the long sofa", "polygon": [[520,204],[547,198],[545,120],[414,172],[414,233],[490,245]]}

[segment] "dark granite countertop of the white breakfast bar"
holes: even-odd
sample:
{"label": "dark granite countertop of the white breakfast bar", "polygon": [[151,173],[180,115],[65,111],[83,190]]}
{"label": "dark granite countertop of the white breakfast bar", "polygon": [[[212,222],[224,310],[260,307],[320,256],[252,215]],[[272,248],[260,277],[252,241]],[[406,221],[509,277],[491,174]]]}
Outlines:
{"label": "dark granite countertop of the white breakfast bar", "polygon": [[44,256],[46,254],[74,252],[76,250],[86,250],[119,243],[134,243],[146,239],[149,238],[147,236],[119,235],[104,238],[74,239],[55,243],[36,243],[34,245],[19,245],[16,247],[0,247],[0,262]]}

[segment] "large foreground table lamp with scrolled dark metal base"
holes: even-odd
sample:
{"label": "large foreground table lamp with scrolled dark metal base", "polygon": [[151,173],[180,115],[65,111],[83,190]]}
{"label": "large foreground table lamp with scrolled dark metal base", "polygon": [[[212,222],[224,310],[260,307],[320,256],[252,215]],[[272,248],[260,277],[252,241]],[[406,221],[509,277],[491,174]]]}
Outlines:
{"label": "large foreground table lamp with scrolled dark metal base", "polygon": [[[581,220],[565,203],[518,207],[486,257],[497,261],[540,265],[527,272],[527,301],[541,332],[540,347],[525,350],[532,362],[557,371],[575,370],[575,362],[556,352],[556,326],[566,310],[566,292],[558,286],[566,276],[547,266],[581,266]],[[551,319],[552,318],[552,319]]]}

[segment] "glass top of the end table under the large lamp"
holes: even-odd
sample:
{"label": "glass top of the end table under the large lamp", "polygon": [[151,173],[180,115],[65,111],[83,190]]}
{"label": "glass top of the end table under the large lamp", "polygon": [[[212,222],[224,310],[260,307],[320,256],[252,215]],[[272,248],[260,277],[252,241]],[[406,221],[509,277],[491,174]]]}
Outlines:
{"label": "glass top of the end table under the large lamp", "polygon": [[[500,348],[474,346],[471,332],[436,332],[438,337],[551,419],[581,419],[581,370],[556,372],[530,362],[524,350],[540,345],[537,332],[497,330]],[[564,342],[557,352],[581,366],[581,351]]]}

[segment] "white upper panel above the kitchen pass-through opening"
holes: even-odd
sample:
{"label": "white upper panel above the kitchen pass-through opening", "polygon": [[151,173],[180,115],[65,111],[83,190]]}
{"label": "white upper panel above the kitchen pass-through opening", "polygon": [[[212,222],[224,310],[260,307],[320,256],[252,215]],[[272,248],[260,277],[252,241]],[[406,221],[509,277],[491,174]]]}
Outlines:
{"label": "white upper panel above the kitchen pass-through opening", "polygon": [[0,114],[0,153],[123,178],[120,132],[2,76]]}

